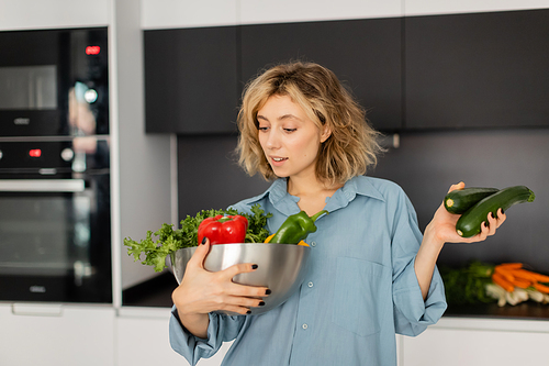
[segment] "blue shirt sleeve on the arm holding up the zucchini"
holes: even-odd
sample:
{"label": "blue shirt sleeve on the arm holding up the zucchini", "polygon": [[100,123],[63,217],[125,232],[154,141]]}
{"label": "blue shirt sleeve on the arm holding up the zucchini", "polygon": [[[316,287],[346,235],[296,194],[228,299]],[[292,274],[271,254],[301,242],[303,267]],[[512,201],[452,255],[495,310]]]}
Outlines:
{"label": "blue shirt sleeve on the arm holding up the zucchini", "polygon": [[435,267],[425,301],[414,269],[423,235],[415,210],[402,192],[395,210],[392,237],[393,313],[395,331],[415,336],[435,324],[446,310],[442,279]]}

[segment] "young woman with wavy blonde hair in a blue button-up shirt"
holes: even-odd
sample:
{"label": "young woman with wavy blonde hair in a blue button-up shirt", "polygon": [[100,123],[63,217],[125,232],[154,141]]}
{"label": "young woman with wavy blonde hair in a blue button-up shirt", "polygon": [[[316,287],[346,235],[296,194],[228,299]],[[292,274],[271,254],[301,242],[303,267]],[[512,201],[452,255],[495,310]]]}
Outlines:
{"label": "young woman with wavy blonde hair in a blue button-up shirt", "polygon": [[223,365],[396,365],[395,333],[417,335],[446,309],[436,269],[444,244],[483,241],[505,215],[486,218],[482,232],[464,240],[456,234],[459,217],[440,206],[422,235],[402,189],[363,176],[381,149],[378,133],[336,76],[316,64],[276,66],[250,82],[238,127],[240,164],[273,182],[234,208],[249,212],[260,203],[272,213],[270,232],[301,210],[329,214],[307,237],[304,285],[259,315],[214,312],[246,314],[270,290],[232,281],[254,264],[206,271],[210,244],[199,245],[172,295],[171,346],[191,365],[232,340]]}

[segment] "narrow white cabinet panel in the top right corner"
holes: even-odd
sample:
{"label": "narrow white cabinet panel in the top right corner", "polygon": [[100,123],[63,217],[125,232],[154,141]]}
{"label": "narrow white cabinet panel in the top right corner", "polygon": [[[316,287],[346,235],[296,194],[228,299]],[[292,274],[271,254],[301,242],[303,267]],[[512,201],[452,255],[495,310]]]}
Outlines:
{"label": "narrow white cabinet panel in the top right corner", "polygon": [[405,0],[403,3],[406,16],[549,8],[548,0]]}

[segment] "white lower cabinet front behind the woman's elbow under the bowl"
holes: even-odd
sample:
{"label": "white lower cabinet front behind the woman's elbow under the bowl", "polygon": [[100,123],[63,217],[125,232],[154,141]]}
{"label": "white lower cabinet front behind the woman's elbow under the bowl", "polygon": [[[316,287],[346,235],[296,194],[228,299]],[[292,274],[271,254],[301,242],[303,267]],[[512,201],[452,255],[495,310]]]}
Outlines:
{"label": "white lower cabinet front behind the woman's elbow under the bowl", "polygon": [[[170,309],[128,308],[116,318],[116,366],[181,365],[189,363],[169,344]],[[211,358],[201,359],[199,366],[219,366],[231,343]]]}

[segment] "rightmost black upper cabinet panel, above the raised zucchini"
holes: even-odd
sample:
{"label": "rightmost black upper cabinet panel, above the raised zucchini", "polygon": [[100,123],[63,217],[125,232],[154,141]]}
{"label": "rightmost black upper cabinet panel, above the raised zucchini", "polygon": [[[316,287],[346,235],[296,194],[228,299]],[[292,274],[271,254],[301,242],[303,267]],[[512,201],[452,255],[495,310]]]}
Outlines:
{"label": "rightmost black upper cabinet panel, above the raised zucchini", "polygon": [[549,125],[549,10],[405,18],[405,126]]}

